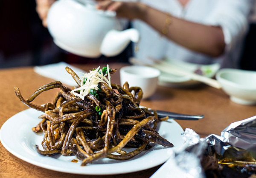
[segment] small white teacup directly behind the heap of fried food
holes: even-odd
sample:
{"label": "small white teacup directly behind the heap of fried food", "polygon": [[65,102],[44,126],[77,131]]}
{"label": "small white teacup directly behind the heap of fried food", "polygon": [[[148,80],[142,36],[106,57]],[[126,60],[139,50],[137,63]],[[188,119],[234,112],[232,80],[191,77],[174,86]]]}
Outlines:
{"label": "small white teacup directly behind the heap of fried food", "polygon": [[143,91],[143,99],[154,94],[159,75],[158,69],[142,65],[126,66],[120,69],[121,85],[128,82],[130,87],[140,87]]}

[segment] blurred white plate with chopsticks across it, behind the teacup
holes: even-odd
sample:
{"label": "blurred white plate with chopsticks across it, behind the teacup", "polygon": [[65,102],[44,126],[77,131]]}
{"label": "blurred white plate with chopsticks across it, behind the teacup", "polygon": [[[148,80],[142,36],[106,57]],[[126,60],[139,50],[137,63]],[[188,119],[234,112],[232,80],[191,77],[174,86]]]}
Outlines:
{"label": "blurred white plate with chopsticks across it, behind the teacup", "polygon": [[[215,76],[215,73],[220,68],[220,65],[217,63],[210,65],[200,65],[172,59],[166,59],[166,62],[176,68],[180,68],[185,71],[194,72],[200,69],[204,73],[204,76],[209,78]],[[164,72],[161,72],[158,80],[159,85],[172,87],[185,87],[200,83],[198,81],[192,80],[189,76],[172,75]]]}

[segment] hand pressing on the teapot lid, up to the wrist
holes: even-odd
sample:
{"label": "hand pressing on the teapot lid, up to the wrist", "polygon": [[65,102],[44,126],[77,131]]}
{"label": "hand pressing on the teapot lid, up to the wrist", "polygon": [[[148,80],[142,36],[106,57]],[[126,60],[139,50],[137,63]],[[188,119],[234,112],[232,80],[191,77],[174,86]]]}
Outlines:
{"label": "hand pressing on the teapot lid, up to the wrist", "polygon": [[115,11],[117,17],[125,17],[129,20],[140,18],[143,14],[143,5],[137,2],[122,2],[113,0],[96,0],[97,9]]}

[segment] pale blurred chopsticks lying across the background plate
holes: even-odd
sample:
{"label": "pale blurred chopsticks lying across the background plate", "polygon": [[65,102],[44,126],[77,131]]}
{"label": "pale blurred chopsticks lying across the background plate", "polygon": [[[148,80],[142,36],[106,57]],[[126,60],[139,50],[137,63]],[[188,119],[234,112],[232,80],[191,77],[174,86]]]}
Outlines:
{"label": "pale blurred chopsticks lying across the background plate", "polygon": [[158,70],[169,73],[169,74],[189,76],[192,80],[202,82],[202,83],[207,84],[207,85],[209,85],[211,87],[214,87],[214,88],[218,88],[218,89],[221,88],[220,83],[215,79],[211,79],[211,78],[206,77],[206,76],[201,76],[201,75],[198,75],[196,73],[184,71],[184,70],[182,70],[180,68],[177,68],[177,67],[174,67],[173,65],[169,64],[168,62],[164,62],[162,60],[155,60],[155,59],[152,59],[152,58],[149,58],[149,59],[151,59],[153,64],[150,64],[148,62],[143,62],[143,61],[138,60],[134,57],[131,57],[129,59],[129,62],[131,62],[132,64],[137,64],[137,65],[151,66],[151,67],[157,68]]}

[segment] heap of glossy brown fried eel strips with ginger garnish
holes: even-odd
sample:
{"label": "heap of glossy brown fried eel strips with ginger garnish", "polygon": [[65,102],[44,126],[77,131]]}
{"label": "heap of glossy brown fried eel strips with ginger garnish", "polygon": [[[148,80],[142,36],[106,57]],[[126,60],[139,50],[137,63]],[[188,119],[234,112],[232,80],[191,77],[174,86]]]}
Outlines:
{"label": "heap of glossy brown fried eel strips with ginger garnish", "polygon": [[[61,82],[43,85],[28,99],[24,99],[19,88],[15,94],[27,106],[42,111],[41,122],[32,128],[44,132],[41,143],[36,145],[42,155],[76,155],[81,166],[100,158],[126,160],[148,150],[150,143],[164,147],[173,144],[162,138],[155,130],[162,119],[156,112],[140,108],[143,92],[139,87],[112,84],[110,74],[116,70],[103,67],[79,76],[66,67],[78,87],[71,90]],[[108,77],[108,79],[107,79]],[[53,102],[44,106],[33,104],[40,93],[59,88]],[[132,147],[127,153],[123,147]]]}

